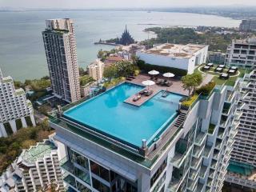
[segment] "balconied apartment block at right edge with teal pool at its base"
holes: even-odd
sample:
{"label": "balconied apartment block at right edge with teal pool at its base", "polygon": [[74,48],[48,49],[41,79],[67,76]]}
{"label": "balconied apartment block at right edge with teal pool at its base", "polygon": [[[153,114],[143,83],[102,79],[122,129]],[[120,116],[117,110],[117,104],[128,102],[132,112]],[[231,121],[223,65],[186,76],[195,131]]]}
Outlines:
{"label": "balconied apartment block at right edge with teal pool at its base", "polygon": [[256,189],[256,72],[246,74],[238,108],[238,131],[226,182]]}

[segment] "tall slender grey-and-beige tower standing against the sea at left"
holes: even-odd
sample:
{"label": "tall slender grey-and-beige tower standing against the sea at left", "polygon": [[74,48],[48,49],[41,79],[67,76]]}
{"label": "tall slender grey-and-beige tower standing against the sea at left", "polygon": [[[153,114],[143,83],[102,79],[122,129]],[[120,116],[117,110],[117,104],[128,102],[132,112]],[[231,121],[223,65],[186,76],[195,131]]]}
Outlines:
{"label": "tall slender grey-and-beige tower standing against the sea at left", "polygon": [[66,102],[77,101],[81,95],[73,20],[46,20],[42,37],[54,94]]}

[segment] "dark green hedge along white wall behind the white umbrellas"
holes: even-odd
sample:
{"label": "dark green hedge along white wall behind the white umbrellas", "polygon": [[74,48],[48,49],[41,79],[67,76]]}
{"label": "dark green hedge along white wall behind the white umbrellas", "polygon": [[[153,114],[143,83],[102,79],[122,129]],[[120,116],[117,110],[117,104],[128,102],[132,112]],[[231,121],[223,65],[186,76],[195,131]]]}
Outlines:
{"label": "dark green hedge along white wall behind the white umbrellas", "polygon": [[178,68],[174,67],[169,67],[169,66],[156,66],[156,65],[151,65],[147,64],[142,60],[138,60],[137,65],[140,70],[143,70],[145,72],[149,72],[150,70],[158,70],[160,73],[164,74],[167,72],[175,74],[175,77],[182,77],[187,74],[187,70],[181,70]]}

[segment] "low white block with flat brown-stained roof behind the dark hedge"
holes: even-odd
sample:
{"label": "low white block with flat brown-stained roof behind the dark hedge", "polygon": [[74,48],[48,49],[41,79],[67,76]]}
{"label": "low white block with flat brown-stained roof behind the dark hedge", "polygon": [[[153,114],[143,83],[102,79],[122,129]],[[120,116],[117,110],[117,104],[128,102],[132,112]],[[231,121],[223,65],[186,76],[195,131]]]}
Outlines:
{"label": "low white block with flat brown-stained roof behind the dark hedge", "polygon": [[207,52],[206,45],[165,43],[150,50],[139,50],[136,55],[147,64],[187,70],[188,74],[193,74],[195,66],[206,62]]}

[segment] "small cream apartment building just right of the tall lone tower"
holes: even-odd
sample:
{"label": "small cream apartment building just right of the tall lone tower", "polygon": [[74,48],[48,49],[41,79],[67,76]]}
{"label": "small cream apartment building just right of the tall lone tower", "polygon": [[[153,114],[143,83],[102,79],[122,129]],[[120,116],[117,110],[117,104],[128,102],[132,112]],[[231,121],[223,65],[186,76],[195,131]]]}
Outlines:
{"label": "small cream apartment building just right of the tall lone tower", "polygon": [[87,72],[91,78],[95,81],[100,81],[103,78],[104,62],[100,59],[96,59],[89,66],[87,66]]}

